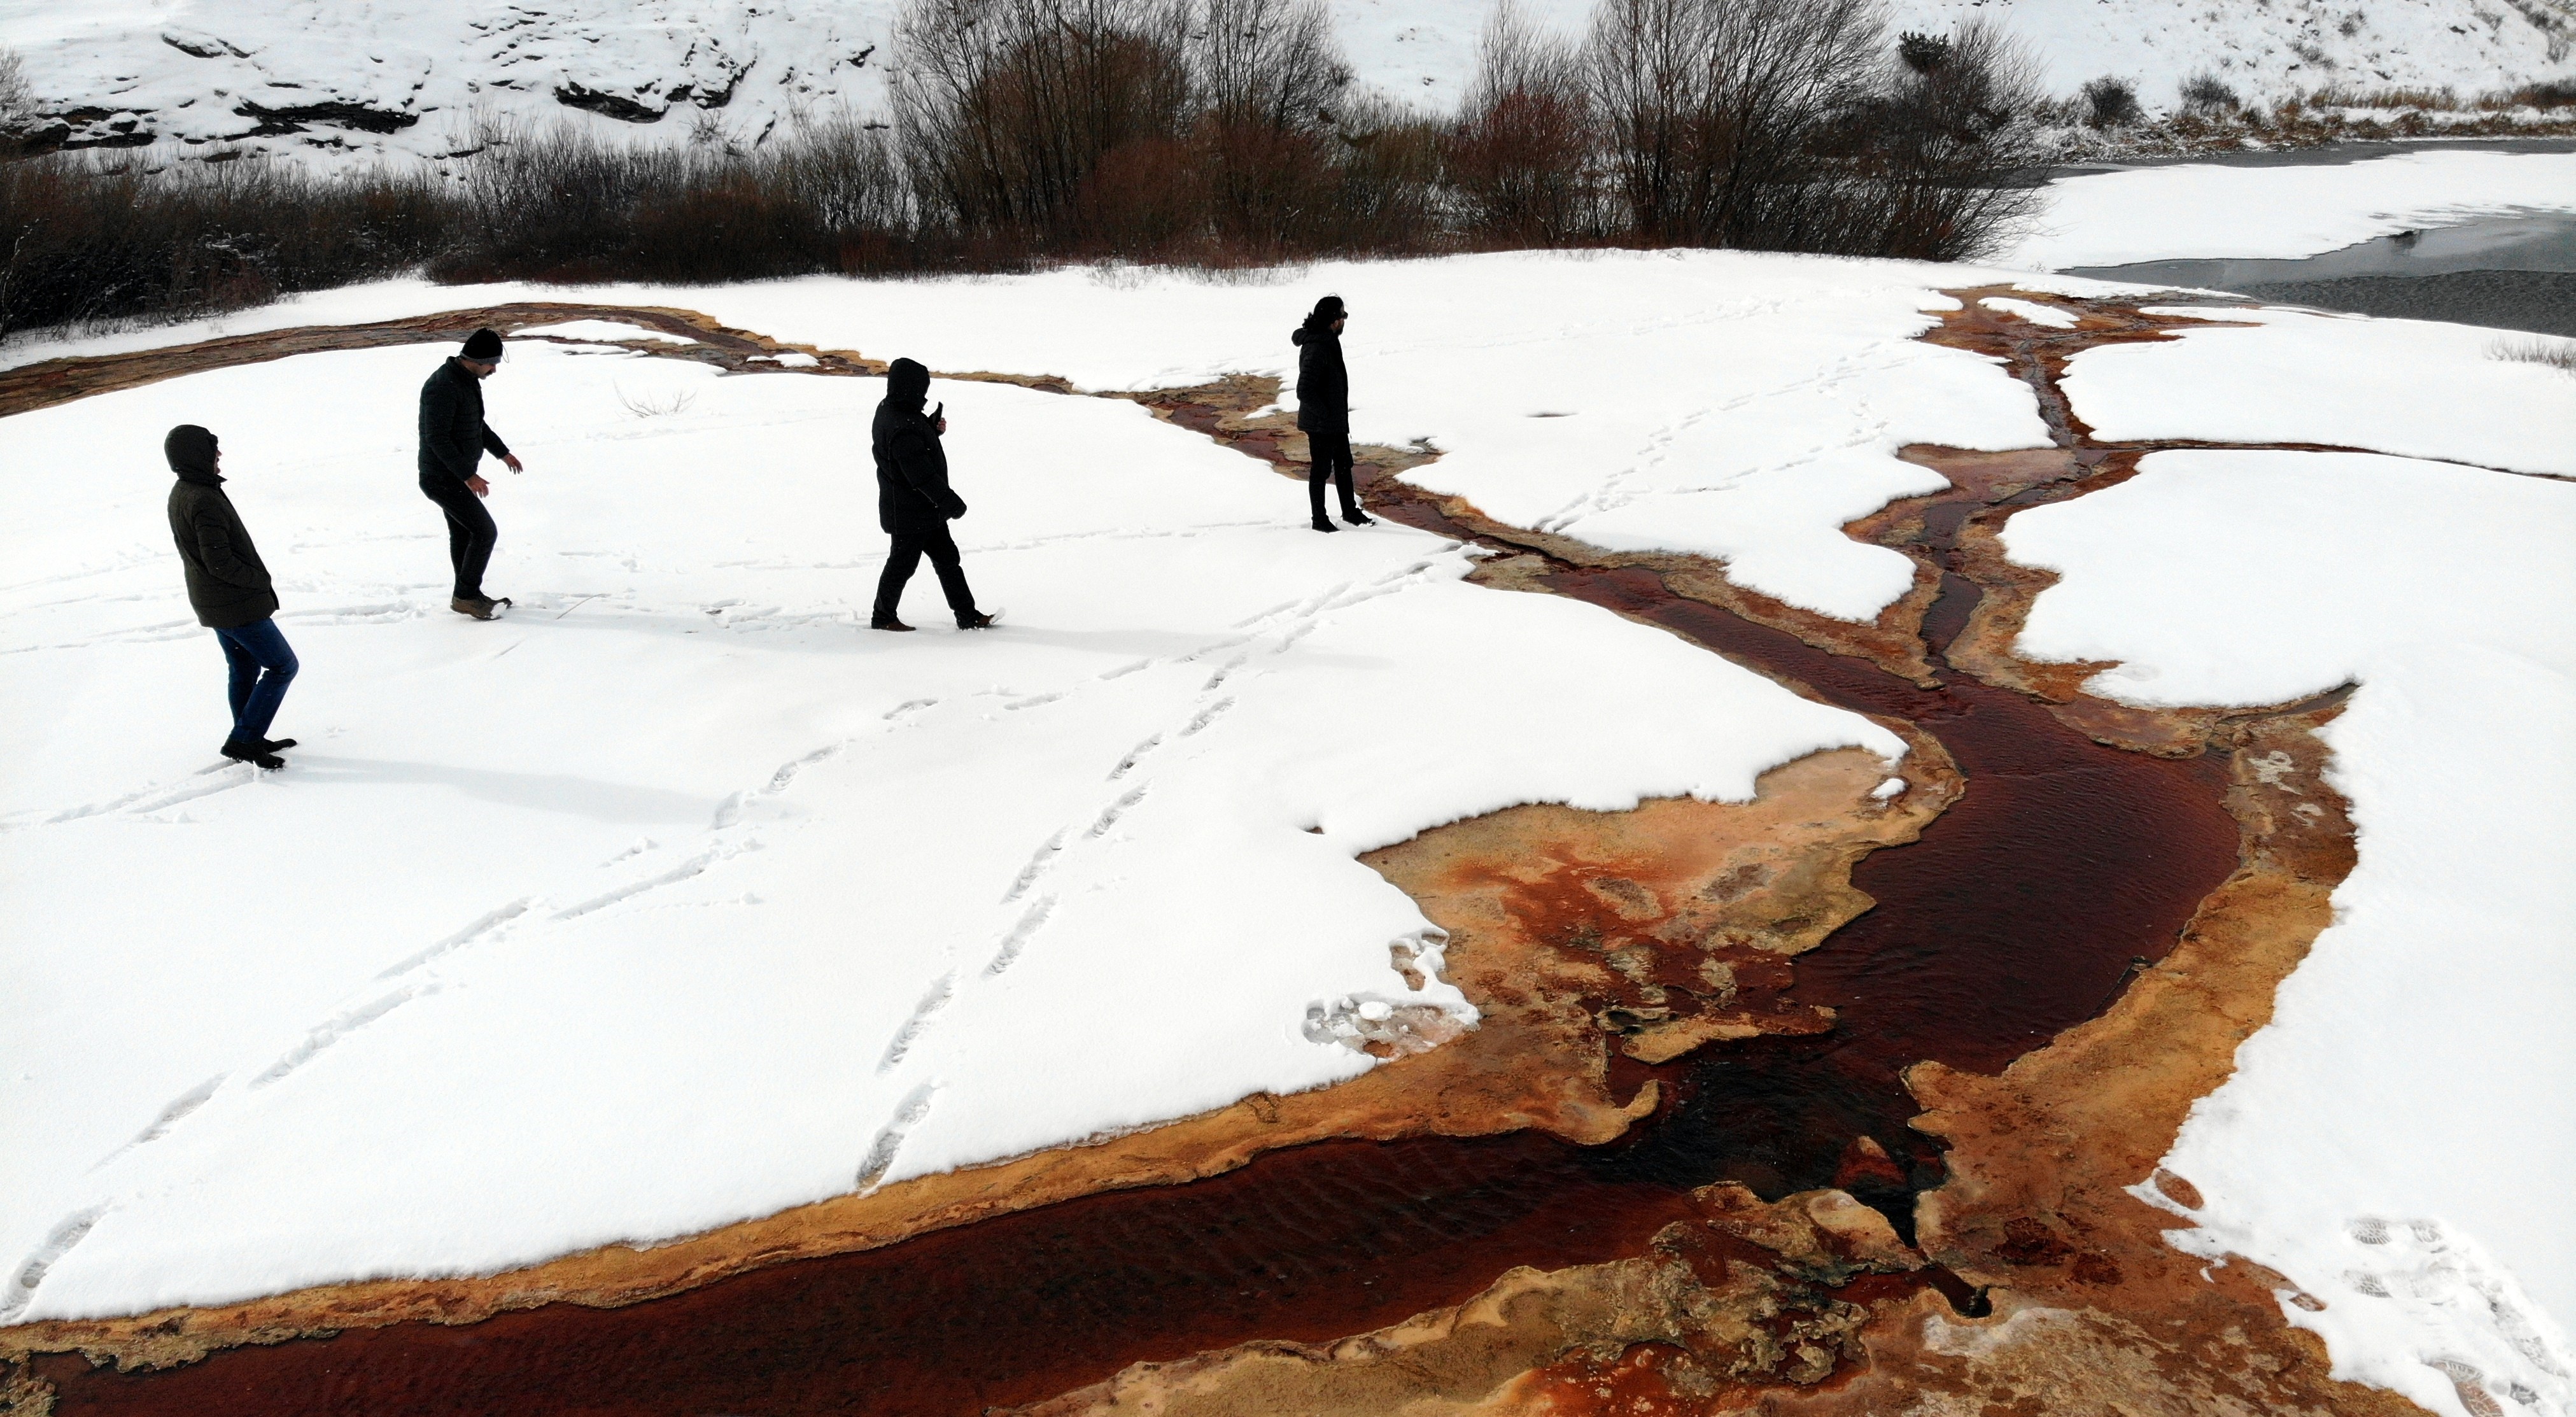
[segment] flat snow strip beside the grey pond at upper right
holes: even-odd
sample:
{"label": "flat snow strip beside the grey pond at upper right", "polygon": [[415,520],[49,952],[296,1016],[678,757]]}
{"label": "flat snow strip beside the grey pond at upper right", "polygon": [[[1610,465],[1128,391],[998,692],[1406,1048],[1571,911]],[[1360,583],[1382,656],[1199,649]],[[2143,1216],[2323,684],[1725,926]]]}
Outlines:
{"label": "flat snow strip beside the grey pond at upper right", "polygon": [[2316,167],[2187,162],[2048,183],[1999,265],[2300,258],[2506,211],[2576,211],[2576,152],[2406,152]]}

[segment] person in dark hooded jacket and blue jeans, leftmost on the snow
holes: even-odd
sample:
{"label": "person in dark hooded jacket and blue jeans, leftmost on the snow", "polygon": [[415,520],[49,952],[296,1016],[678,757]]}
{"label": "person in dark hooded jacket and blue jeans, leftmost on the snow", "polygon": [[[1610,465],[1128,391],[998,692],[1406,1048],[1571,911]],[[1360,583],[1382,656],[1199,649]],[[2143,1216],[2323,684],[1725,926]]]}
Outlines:
{"label": "person in dark hooded jacket and blue jeans, leftmost on the snow", "polygon": [[268,737],[286,685],[296,678],[296,652],[270,618],[278,613],[278,593],[260,549],[242,528],[242,513],[224,495],[224,477],[216,471],[224,453],[214,433],[183,423],[162,438],[162,456],[178,474],[170,484],[170,541],[188,569],[188,605],[224,644],[224,662],[232,667],[232,732],[224,734],[222,752],[234,763],[278,770],[286,765],[278,752],[296,745],[291,737]]}

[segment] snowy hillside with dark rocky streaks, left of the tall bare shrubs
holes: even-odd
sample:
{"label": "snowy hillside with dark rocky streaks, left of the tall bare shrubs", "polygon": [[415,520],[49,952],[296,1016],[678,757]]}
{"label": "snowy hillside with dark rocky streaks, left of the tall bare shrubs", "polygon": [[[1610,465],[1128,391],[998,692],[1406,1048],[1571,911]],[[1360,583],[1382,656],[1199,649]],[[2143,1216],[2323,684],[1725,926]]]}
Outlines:
{"label": "snowy hillside with dark rocky streaks, left of the tall bare shrubs", "polygon": [[21,0],[0,44],[75,144],[435,157],[477,113],[683,142],[701,121],[757,139],[799,108],[884,108],[891,18],[891,0]]}

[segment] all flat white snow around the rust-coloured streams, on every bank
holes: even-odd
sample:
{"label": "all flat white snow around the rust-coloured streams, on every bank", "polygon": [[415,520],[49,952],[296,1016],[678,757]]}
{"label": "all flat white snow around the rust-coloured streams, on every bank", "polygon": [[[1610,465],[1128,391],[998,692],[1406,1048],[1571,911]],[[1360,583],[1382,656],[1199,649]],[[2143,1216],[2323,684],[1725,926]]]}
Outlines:
{"label": "all flat white snow around the rust-coloured streams, on every bank", "polygon": [[[1911,340],[1935,286],[2007,278],[1602,252],[1270,286],[379,283],[8,363],[569,296],[1141,389],[1285,374],[1288,327],[1334,289],[1355,430],[1443,448],[1422,482],[1734,556],[1744,585],[1862,618],[1909,567],[1837,528],[1937,487],[1899,446],[2045,443],[2027,386]],[[2576,1247],[2532,1188],[2576,1165],[2537,1092],[2566,1059],[2514,1028],[2563,1015],[2576,976],[2545,817],[2568,786],[2576,487],[2465,464],[2571,471],[2576,381],[2483,358],[2488,332],[2259,325],[2084,353],[2074,407],[2115,438],[2439,461],[2159,453],[2009,538],[2066,575],[2025,649],[2123,660],[2107,693],[2362,683],[2334,729],[2362,871],[2169,1159],[2210,1198],[2190,1244],[2326,1296],[2293,1317],[2354,1376],[2463,1412],[2421,1360],[2470,1363],[2563,1409]],[[1458,585],[1437,541],[1306,533],[1296,487],[1141,410],[1002,386],[943,394],[969,569],[1010,629],[871,636],[871,384],[533,345],[492,386],[533,469],[497,492],[495,585],[523,611],[466,623],[438,608],[410,484],[428,358],[307,356],[0,423],[23,508],[0,881],[26,899],[0,940],[33,982],[0,1005],[0,1090],[13,1128],[62,1139],[0,1146],[21,1280],[0,1306],[23,1317],[495,1268],[1342,1077],[1365,1059],[1311,1041],[1309,1007],[1461,1007],[1388,969],[1422,920],[1352,853],[1504,801],[1741,794],[1824,742],[1891,747],[1623,621]],[[667,417],[621,397],[683,392]],[[283,572],[307,672],[281,732],[309,747],[281,778],[206,768],[219,667],[157,510],[180,420],[227,435]],[[940,623],[927,572],[912,603]],[[2401,1002],[2352,1002],[2378,997]],[[98,1023],[28,1025],[75,1007]],[[2488,1126],[2488,1105],[2517,1110]]]}

